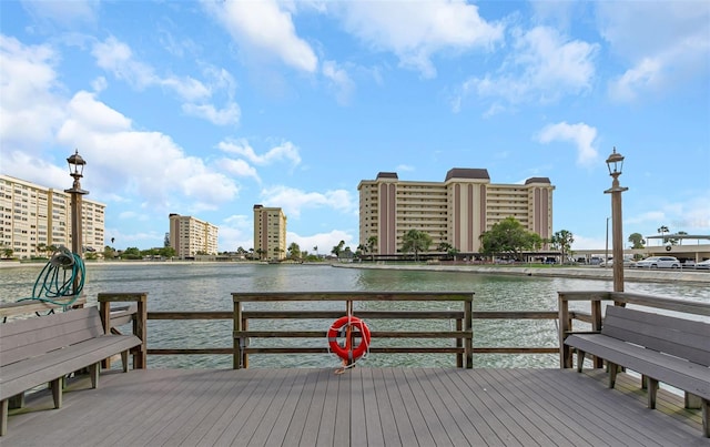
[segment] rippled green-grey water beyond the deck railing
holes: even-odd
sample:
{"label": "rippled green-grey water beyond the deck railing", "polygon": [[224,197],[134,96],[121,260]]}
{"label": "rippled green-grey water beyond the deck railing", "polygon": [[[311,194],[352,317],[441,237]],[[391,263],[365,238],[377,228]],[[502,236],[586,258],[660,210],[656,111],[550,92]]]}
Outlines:
{"label": "rippled green-grey water beyond the deck railing", "polygon": [[[32,286],[43,265],[0,268],[0,301],[14,302],[32,294]],[[707,302],[710,287],[698,284],[626,283],[627,292],[684,297]],[[611,289],[610,281],[578,278],[542,278],[475,273],[409,272],[358,268],[335,268],[328,265],[263,264],[171,264],[87,266],[84,293],[90,304],[100,292],[148,292],[149,311],[231,311],[232,292],[314,292],[314,291],[465,291],[475,293],[474,309],[478,311],[556,311],[558,291]],[[255,306],[256,304],[250,303]],[[276,304],[278,305],[278,304]],[[305,308],[311,303],[293,303],[292,308]],[[329,304],[339,308],[342,304]],[[452,304],[438,304],[446,308]],[[264,304],[262,304],[264,306]],[[282,308],[284,304],[281,304]],[[298,307],[304,306],[304,307]],[[357,307],[359,306],[359,307]],[[387,307],[393,306],[393,307]],[[364,303],[357,309],[423,308],[422,303]],[[248,305],[245,308],[250,308]],[[254,307],[251,307],[254,308]],[[325,307],[322,307],[325,308]],[[280,329],[327,329],[332,322],[280,322]],[[251,322],[250,328],[270,322]],[[392,322],[367,322],[373,331],[393,328]],[[448,329],[450,323],[403,322],[419,325],[399,329]],[[426,326],[425,326],[426,325]],[[439,325],[439,326],[435,326]],[[444,325],[444,326],[440,326]],[[226,347],[231,346],[230,322],[149,322],[149,346]],[[554,321],[474,321],[476,346],[556,346]],[[300,345],[323,346],[325,341],[287,341]],[[258,341],[260,346],[267,346]],[[280,341],[280,343],[284,343]],[[408,343],[388,341],[387,345]],[[427,342],[420,342],[427,343]],[[429,342],[444,343],[444,342]],[[450,343],[450,342],[449,342]],[[252,342],[256,346],[256,341]],[[373,341],[373,345],[376,341]],[[149,367],[231,367],[231,356],[150,356]],[[339,365],[334,355],[253,355],[251,367],[324,367]],[[375,355],[361,360],[362,366],[454,366],[453,355]],[[476,355],[474,366],[557,367],[556,355]]]}

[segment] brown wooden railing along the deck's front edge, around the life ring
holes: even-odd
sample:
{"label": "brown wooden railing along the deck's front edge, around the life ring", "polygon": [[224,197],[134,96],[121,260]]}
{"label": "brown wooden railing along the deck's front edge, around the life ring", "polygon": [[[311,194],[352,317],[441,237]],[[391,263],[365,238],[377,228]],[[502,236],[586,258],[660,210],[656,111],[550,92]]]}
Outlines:
{"label": "brown wooden railing along the deck's front edge, around the life ring", "polygon": [[[132,329],[135,335],[144,341],[140,351],[135,351],[134,363],[145,366],[146,356],[154,355],[231,355],[233,357],[233,367],[248,366],[250,355],[262,354],[317,354],[327,353],[326,331],[288,331],[282,332],[278,326],[286,321],[297,319],[323,319],[326,324],[332,323],[338,317],[346,315],[348,308],[353,308],[355,302],[450,302],[455,309],[438,311],[372,311],[356,309],[356,316],[365,319],[379,319],[385,323],[402,322],[403,325],[409,327],[424,326],[419,324],[424,321],[449,321],[452,324],[449,329],[442,331],[375,331],[372,333],[373,343],[371,353],[378,354],[449,354],[456,356],[456,365],[458,367],[470,367],[473,365],[473,354],[559,354],[558,346],[495,346],[483,345],[477,341],[473,332],[474,321],[552,321],[557,322],[557,311],[474,311],[473,309],[473,292],[325,292],[325,293],[233,293],[234,307],[232,311],[151,311],[148,312],[148,294],[146,293],[100,293],[98,302],[101,306],[113,303],[111,307],[111,331],[116,331],[118,326],[132,322]],[[336,302],[342,303],[337,309],[333,309],[331,303],[329,311],[308,309],[308,311],[281,311],[281,309],[244,309],[242,304],[246,302],[255,303],[275,303],[275,302]],[[118,306],[116,306],[118,304]],[[129,306],[126,306],[129,305]],[[36,304],[24,304],[23,306],[37,306]],[[21,312],[19,307],[12,306],[13,312]],[[337,306],[336,306],[337,307]],[[419,307],[419,306],[417,306]],[[426,307],[426,306],[423,306]],[[34,307],[27,307],[34,308]],[[102,313],[105,312],[104,307]],[[0,312],[9,313],[0,307]],[[28,311],[29,312],[29,311]],[[3,314],[0,314],[3,315]],[[576,315],[577,319],[585,319],[584,315]],[[588,317],[587,317],[588,319]],[[180,325],[186,321],[204,321],[204,322],[232,322],[232,338],[229,345],[217,347],[150,347],[148,345],[148,334],[152,332],[149,321],[170,321],[174,325]],[[262,328],[260,331],[250,331],[250,322],[256,321],[275,321],[274,327]],[[280,323],[282,322],[282,323]],[[385,324],[386,326],[387,324]],[[255,326],[255,325],[253,325]],[[263,325],[262,325],[263,326]],[[323,326],[322,326],[323,327]],[[555,332],[552,332],[555,334]],[[280,339],[297,338],[323,338],[321,346],[257,346],[256,343],[248,343],[250,339],[255,342],[260,338],[278,342]],[[454,343],[447,346],[423,346],[425,339],[450,339]],[[551,336],[552,339],[556,336]],[[185,334],[184,339],[193,341]],[[389,339],[390,345],[386,344]],[[394,342],[396,339],[396,343]],[[478,341],[481,338],[479,337]],[[227,342],[227,338],[224,339]],[[217,341],[219,343],[219,341]],[[515,343],[515,341],[513,342]],[[182,344],[182,343],[181,343]],[[395,346],[396,344],[396,346]],[[403,346],[403,344],[408,344]]]}

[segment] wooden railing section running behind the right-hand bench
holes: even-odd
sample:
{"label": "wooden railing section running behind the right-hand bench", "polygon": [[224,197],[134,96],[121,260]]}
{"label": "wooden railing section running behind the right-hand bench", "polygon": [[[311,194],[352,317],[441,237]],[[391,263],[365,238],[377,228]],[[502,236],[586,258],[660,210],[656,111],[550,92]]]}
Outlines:
{"label": "wooden railing section running behind the right-hand bench", "polygon": [[[570,302],[588,302],[589,312],[571,311]],[[565,337],[575,332],[574,321],[582,321],[591,325],[592,332],[601,329],[602,322],[602,302],[608,305],[627,305],[632,304],[649,308],[678,312],[681,314],[694,315],[696,317],[710,317],[710,303],[701,303],[686,299],[677,299],[653,295],[643,295],[628,292],[594,292],[594,291],[575,291],[558,293],[559,309],[559,363],[561,368],[572,367],[572,352],[565,346]],[[592,359],[594,366],[602,367],[600,358]]]}

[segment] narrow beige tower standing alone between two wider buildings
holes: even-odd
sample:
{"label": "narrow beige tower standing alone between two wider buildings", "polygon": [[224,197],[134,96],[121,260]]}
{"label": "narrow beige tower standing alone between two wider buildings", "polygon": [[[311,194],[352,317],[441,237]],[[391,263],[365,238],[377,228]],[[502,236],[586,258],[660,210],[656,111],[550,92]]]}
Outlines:
{"label": "narrow beige tower standing alone between two wider buildings", "polygon": [[280,207],[254,205],[254,254],[260,260],[286,257],[286,216]]}

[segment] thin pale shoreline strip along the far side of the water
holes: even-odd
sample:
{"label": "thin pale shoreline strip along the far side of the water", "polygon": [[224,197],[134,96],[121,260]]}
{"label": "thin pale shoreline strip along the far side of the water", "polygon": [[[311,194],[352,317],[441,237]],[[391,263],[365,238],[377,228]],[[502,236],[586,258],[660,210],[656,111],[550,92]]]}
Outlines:
{"label": "thin pale shoreline strip along the far side of the water", "polygon": [[[28,266],[44,266],[45,262],[19,262],[2,261],[0,270]],[[87,268],[92,265],[254,265],[264,264],[263,262],[240,261],[90,261],[85,263]],[[266,265],[266,264],[264,264]],[[586,280],[613,280],[611,268],[598,266],[584,267],[535,267],[535,266],[494,266],[494,265],[475,265],[475,264],[368,264],[368,263],[304,263],[304,264],[284,264],[284,265],[329,265],[336,268],[371,268],[371,270],[400,270],[400,271],[430,271],[430,272],[449,272],[449,273],[471,273],[487,275],[515,275],[515,276],[541,276],[541,277],[572,277]],[[625,268],[623,276],[626,281],[666,283],[679,281],[683,283],[710,284],[710,272],[700,272],[696,270],[645,270],[645,268]]]}

